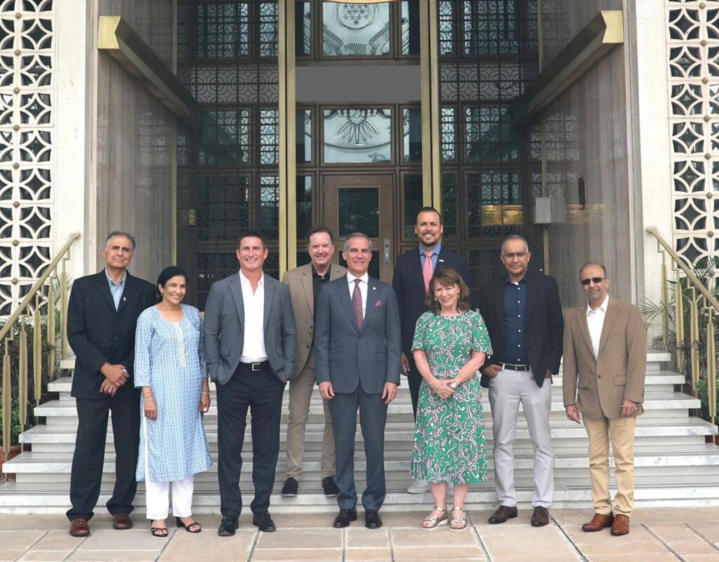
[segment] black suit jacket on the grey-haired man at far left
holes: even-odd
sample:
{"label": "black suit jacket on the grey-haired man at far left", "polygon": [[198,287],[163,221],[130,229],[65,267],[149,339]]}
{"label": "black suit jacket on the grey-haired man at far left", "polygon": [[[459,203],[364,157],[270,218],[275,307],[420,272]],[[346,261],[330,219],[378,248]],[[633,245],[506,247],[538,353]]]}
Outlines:
{"label": "black suit jacket on the grey-haired man at far left", "polygon": [[104,269],[75,279],[68,302],[68,343],[75,352],[72,396],[109,399],[100,391],[105,380],[100,369],[111,363],[124,366],[129,374],[114,399],[137,398],[133,376],[137,317],[156,302],[155,286],[129,272],[117,310]]}

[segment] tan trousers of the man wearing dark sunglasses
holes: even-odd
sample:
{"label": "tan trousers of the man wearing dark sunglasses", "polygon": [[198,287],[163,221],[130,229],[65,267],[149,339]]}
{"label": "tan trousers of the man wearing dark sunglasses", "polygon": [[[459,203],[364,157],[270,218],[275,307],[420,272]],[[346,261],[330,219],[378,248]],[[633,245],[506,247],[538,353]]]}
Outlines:
{"label": "tan trousers of the man wearing dark sunglasses", "polygon": [[634,507],[634,426],[636,417],[617,420],[588,420],[584,424],[589,437],[589,466],[592,476],[594,510],[601,515],[612,512],[609,496],[609,441],[614,452],[614,477],[617,493],[614,497],[615,515],[630,516]]}

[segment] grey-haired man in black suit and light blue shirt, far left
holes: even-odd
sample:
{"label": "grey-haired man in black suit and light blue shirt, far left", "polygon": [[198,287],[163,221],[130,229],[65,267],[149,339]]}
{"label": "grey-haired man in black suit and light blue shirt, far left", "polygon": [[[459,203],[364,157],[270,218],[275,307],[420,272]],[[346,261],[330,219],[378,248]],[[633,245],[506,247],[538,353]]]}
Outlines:
{"label": "grey-haired man in black suit and light blue shirt, far left", "polygon": [[68,340],[75,352],[72,396],[78,409],[78,433],[70,476],[70,535],[90,534],[88,520],[100,496],[107,418],[112,411],[115,487],[107,502],[115,529],[129,529],[137,481],[139,389],[132,379],[137,317],[157,302],[156,289],[127,272],[135,241],[127,232],[111,232],[99,273],[73,283],[68,305]]}

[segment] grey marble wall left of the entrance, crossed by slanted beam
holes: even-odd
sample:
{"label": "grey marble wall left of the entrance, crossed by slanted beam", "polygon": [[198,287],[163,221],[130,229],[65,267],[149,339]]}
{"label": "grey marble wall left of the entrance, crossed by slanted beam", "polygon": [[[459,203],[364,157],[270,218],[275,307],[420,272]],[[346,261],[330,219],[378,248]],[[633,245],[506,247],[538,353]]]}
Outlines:
{"label": "grey marble wall left of the entrance, crossed by slanted beam", "polygon": [[[173,29],[172,1],[101,0],[100,13],[127,17],[157,55]],[[170,41],[171,45],[171,41]],[[137,238],[131,271],[154,282],[174,260],[173,191],[175,117],[113,59],[99,53],[96,129],[96,256],[104,236],[128,230]]]}

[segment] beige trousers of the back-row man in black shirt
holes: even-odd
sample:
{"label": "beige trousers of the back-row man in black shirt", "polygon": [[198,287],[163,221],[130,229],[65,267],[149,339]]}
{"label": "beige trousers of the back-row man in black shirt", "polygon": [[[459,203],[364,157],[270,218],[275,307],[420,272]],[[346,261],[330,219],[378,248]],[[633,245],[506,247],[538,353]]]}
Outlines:
{"label": "beige trousers of the back-row man in black shirt", "polygon": [[[302,458],[305,453],[305,426],[310,410],[310,399],[315,386],[314,346],[304,368],[290,379],[290,417],[287,422],[287,476],[297,481],[302,475]],[[322,435],[322,478],[334,476],[334,431],[329,403],[324,406],[324,432]]]}

